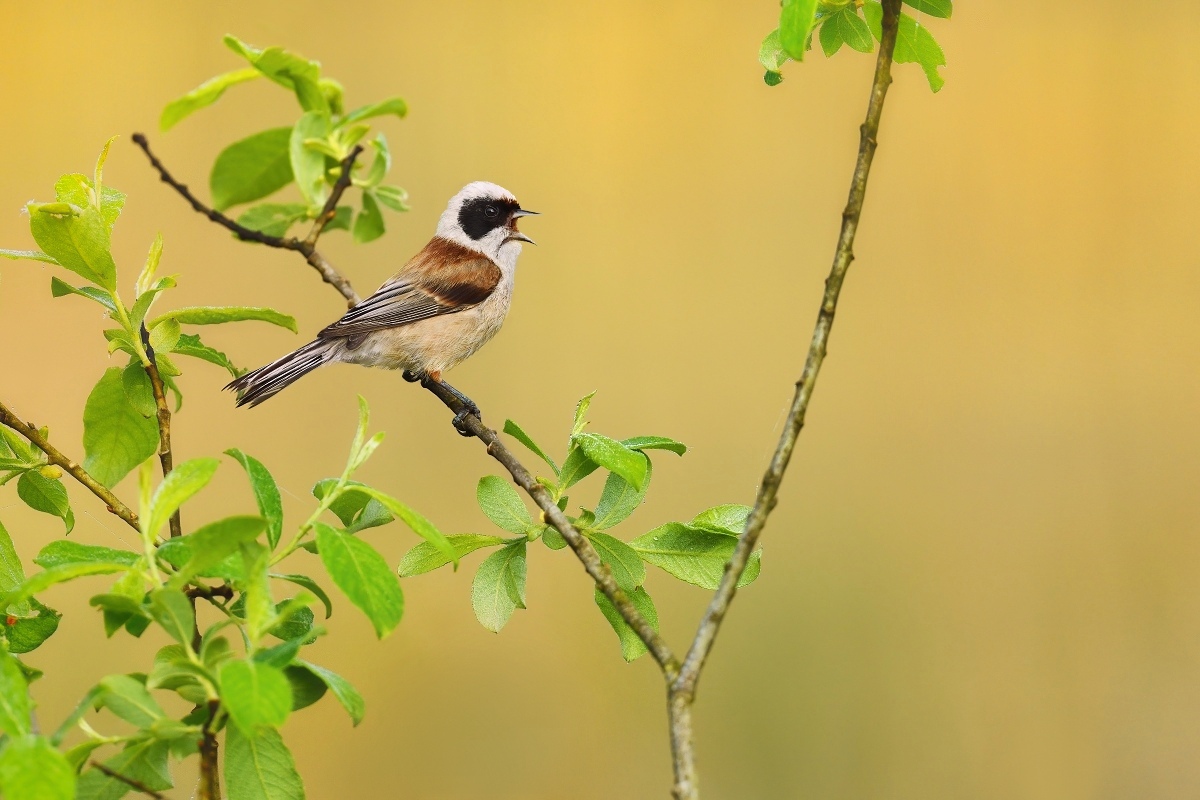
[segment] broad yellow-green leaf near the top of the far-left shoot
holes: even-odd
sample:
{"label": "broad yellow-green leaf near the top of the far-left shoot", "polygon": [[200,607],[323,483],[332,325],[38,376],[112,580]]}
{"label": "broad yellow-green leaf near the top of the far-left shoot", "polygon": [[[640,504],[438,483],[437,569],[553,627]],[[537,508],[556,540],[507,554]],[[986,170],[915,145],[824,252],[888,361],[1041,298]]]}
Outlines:
{"label": "broad yellow-green leaf near the top of the far-left shoot", "polygon": [[101,288],[116,289],[116,264],[109,253],[108,227],[95,206],[89,205],[73,215],[54,213],[56,209],[35,203],[25,207],[34,241],[47,255]]}

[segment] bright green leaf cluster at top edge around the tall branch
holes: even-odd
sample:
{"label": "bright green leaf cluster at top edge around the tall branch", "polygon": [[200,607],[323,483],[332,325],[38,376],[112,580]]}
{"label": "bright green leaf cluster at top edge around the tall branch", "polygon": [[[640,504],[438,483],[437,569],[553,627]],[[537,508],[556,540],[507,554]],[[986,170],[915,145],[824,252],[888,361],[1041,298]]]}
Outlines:
{"label": "bright green leaf cluster at top edge around the tall branch", "polygon": [[[904,2],[918,14],[942,19],[949,19],[954,11],[953,0]],[[767,71],[763,80],[768,86],[779,85],[784,80],[781,67],[791,60],[804,60],[804,54],[812,48],[814,32],[817,32],[821,49],[830,58],[844,46],[859,53],[875,52],[882,26],[880,0],[784,0],[779,28],[767,34],[758,48],[758,62]],[[896,64],[919,65],[935,92],[946,83],[937,71],[946,66],[946,54],[919,18],[900,14],[893,59]]]}

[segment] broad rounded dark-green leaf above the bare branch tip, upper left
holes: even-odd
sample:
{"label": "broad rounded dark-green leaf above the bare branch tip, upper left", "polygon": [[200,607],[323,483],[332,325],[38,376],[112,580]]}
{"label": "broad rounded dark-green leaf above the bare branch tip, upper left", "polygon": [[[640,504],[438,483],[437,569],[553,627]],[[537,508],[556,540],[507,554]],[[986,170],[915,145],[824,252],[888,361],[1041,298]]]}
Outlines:
{"label": "broad rounded dark-green leaf above the bare branch tip, upper left", "polygon": [[292,182],[289,142],[292,128],[271,128],[247,137],[221,151],[212,164],[209,187],[212,206],[224,211],[252,203]]}

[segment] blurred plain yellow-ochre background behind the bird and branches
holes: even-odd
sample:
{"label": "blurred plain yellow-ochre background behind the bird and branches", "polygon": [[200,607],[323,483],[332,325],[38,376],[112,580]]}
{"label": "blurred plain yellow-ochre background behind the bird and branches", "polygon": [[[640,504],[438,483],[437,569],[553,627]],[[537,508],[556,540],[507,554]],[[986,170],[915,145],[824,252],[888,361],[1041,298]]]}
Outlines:
{"label": "blurred plain yellow-ochre background behind the bird and branches", "polygon": [[[294,253],[235,242],[157,182],[146,131],[206,197],[226,144],[289,125],[294,101],[236,86],[170,133],[162,106],[241,66],[235,32],[319,59],[383,121],[413,211],[323,251],[367,293],[432,234],[469,180],[544,212],[504,332],[451,380],[499,426],[562,455],[575,401],[594,428],[686,441],[655,456],[631,539],[718,503],[751,503],[799,374],[866,103],[872,59],[815,53],[768,89],[755,55],[776,6],[718,2],[4,5],[0,246],[29,247],[31,199],[89,172],[128,193],[115,254],[128,284],[156,231],[168,302],[270,305],[205,331],[240,365],[299,345],[342,311]],[[697,704],[707,798],[1200,795],[1200,6],[960,2],[930,20],[949,66],[931,95],[896,70],[854,264],[762,578],[739,594]],[[0,397],[82,453],[106,365],[95,306],[52,300],[50,270],[0,263]],[[176,458],[240,446],[286,487],[293,521],[342,465],[358,392],[388,440],[364,480],[446,531],[487,531],[475,481],[498,465],[432,397],[338,366],[234,410],[216,367],[186,365]],[[594,499],[593,493],[576,498]],[[71,487],[79,541],[132,543]],[[119,494],[131,499],[130,481]],[[253,509],[232,462],[186,525]],[[0,519],[25,559],[59,536],[12,487]],[[395,564],[418,540],[367,534]],[[301,554],[305,555],[305,554]],[[306,557],[305,558],[311,558]],[[661,798],[661,680],[622,662],[565,552],[530,549],[529,610],[493,636],[470,576],[404,582],[376,642],[347,601],[313,660],[352,679],[284,735],[308,795]],[[326,582],[328,583],[328,582]],[[106,640],[60,588],[58,636],[29,661],[43,724],[161,642]],[[708,593],[652,569],[683,649]],[[186,774],[172,796],[188,796]]]}

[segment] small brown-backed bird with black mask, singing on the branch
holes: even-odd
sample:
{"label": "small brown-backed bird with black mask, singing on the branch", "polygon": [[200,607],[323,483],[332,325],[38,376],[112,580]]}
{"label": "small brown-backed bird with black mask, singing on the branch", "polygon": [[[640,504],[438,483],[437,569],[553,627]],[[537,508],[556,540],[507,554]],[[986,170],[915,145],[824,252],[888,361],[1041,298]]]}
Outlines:
{"label": "small brown-backed bird with black mask, singing on the branch", "polygon": [[403,369],[407,380],[442,383],[479,414],[442,373],[470,357],[504,324],[521,242],[517,219],[536,211],[512,193],[475,181],[450,198],[430,243],[373,295],[346,312],[317,338],[265,367],[233,380],[238,405],[254,407],[317,367],[335,361]]}

